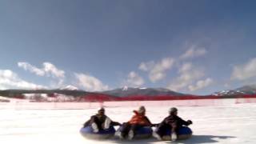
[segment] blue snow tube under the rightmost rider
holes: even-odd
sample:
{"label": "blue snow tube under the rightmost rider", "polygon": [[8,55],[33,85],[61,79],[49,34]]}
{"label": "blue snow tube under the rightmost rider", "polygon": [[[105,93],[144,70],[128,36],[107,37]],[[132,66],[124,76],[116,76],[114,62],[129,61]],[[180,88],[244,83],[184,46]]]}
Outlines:
{"label": "blue snow tube under the rightmost rider", "polygon": [[[165,141],[170,141],[170,130],[166,130],[166,134],[162,137],[163,140]],[[180,129],[178,129],[177,132],[177,136],[178,136],[178,140],[182,140],[182,139],[187,139],[190,138],[192,136],[192,130],[187,127],[187,126],[182,126]]]}

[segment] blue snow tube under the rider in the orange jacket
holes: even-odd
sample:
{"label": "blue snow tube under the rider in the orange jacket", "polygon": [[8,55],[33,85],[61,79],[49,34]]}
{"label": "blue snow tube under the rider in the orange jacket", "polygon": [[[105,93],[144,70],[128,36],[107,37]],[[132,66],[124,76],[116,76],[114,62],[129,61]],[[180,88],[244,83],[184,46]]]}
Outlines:
{"label": "blue snow tube under the rider in the orange jacket", "polygon": [[[122,130],[122,126],[119,127],[118,131]],[[153,130],[150,126],[143,126],[138,128],[134,133],[134,139],[150,138],[152,136]]]}

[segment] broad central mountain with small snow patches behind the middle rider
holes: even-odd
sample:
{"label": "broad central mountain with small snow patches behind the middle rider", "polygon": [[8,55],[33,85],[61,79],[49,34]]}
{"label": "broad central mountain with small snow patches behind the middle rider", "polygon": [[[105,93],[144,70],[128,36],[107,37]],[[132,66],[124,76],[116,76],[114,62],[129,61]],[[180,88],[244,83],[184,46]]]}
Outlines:
{"label": "broad central mountain with small snow patches behind the middle rider", "polygon": [[98,92],[101,94],[113,95],[116,97],[128,97],[128,96],[182,96],[185,94],[177,93],[172,90],[164,89],[164,88],[138,88],[138,87],[127,87],[124,86],[122,88],[107,90]]}

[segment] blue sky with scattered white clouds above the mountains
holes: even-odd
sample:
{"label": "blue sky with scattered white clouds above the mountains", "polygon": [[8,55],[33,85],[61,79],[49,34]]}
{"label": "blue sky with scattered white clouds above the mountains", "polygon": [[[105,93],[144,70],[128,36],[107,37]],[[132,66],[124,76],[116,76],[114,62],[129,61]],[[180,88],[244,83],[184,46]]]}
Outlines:
{"label": "blue sky with scattered white clouds above the mountains", "polygon": [[256,2],[0,1],[0,89],[256,83]]}

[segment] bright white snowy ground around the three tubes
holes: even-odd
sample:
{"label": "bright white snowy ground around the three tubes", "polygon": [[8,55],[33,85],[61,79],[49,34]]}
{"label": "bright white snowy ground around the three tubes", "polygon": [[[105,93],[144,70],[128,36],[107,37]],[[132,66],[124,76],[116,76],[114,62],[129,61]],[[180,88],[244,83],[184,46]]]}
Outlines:
{"label": "bright white snowy ground around the three tubes", "polygon": [[[2,105],[0,103],[0,105]],[[1,106],[0,106],[1,107]],[[84,110],[0,109],[0,142],[6,144],[46,143],[170,143],[154,138],[136,141],[92,141],[79,134],[82,123],[96,112]],[[170,106],[146,106],[147,116],[160,122]],[[107,107],[106,114],[114,121],[126,122],[137,106]],[[256,143],[256,104],[229,104],[223,106],[178,106],[178,114],[193,120],[192,138],[173,143]]]}

